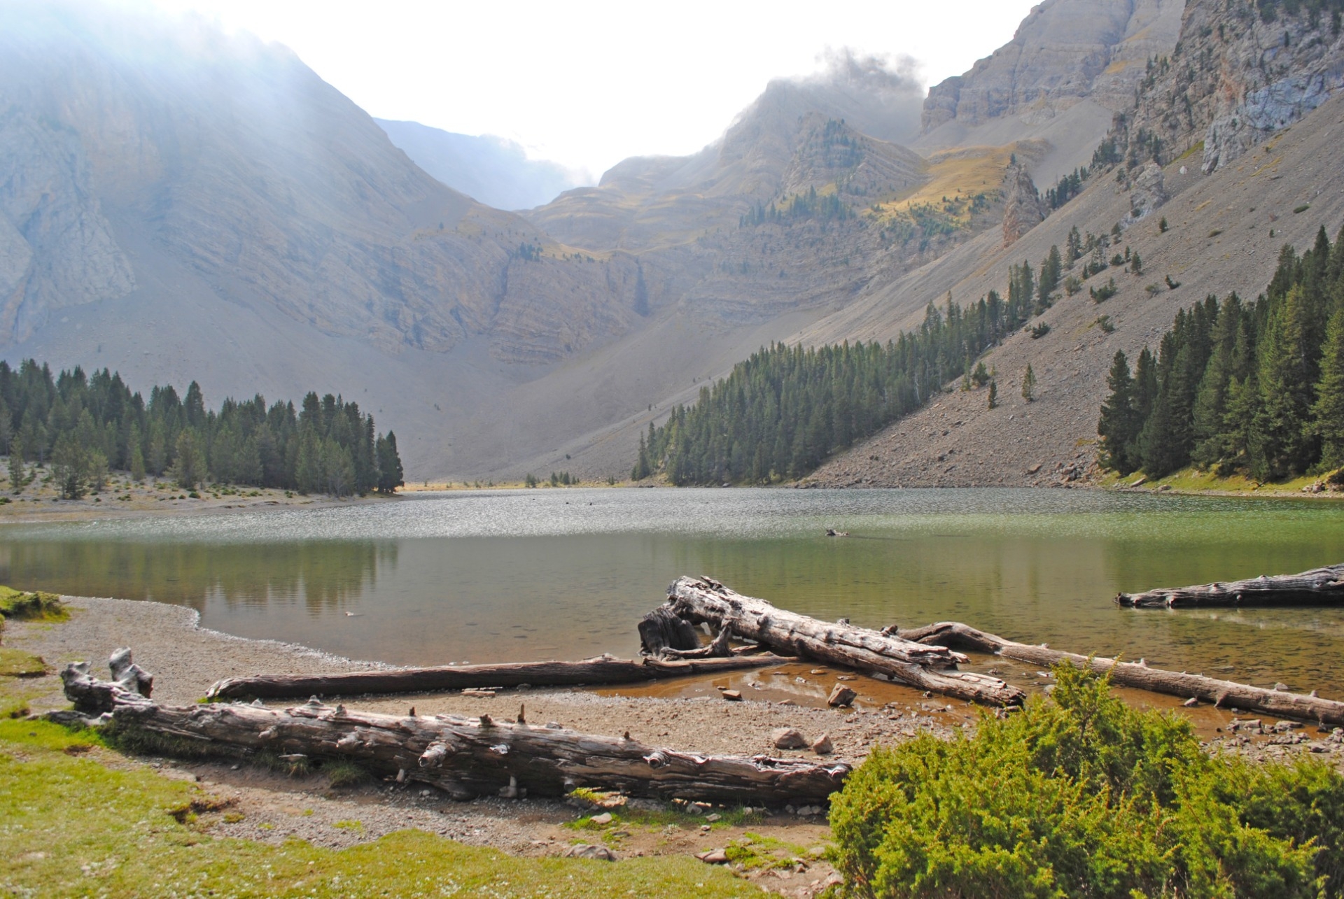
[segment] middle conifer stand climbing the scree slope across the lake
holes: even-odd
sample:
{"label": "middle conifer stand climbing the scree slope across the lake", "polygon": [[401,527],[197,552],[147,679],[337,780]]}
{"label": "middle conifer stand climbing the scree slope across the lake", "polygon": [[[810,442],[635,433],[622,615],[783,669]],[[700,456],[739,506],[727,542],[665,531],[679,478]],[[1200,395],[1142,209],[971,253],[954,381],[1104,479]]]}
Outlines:
{"label": "middle conifer stand climbing the scree slope across the lake", "polygon": [[986,383],[976,357],[1032,313],[1030,289],[1012,294],[1005,302],[991,290],[965,309],[950,298],[943,309],[929,304],[918,331],[884,345],[762,348],[712,388],[703,387],[695,406],[677,406],[661,427],[650,423],[630,476],[663,472],[676,485],[802,477],[914,411],[949,380]]}

